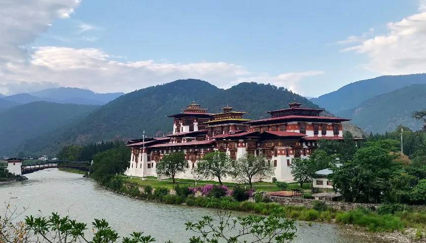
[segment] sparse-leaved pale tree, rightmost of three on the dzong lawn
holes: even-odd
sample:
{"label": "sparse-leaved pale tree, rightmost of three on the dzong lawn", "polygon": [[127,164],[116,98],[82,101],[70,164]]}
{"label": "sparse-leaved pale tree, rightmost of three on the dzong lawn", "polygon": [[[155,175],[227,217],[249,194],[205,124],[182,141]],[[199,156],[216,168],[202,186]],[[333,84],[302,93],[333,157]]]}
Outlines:
{"label": "sparse-leaved pale tree, rightmost of three on the dzong lawn", "polygon": [[235,160],[231,174],[235,179],[245,181],[250,187],[253,187],[252,180],[254,177],[269,179],[274,175],[274,172],[275,169],[271,161],[266,157],[246,153]]}

